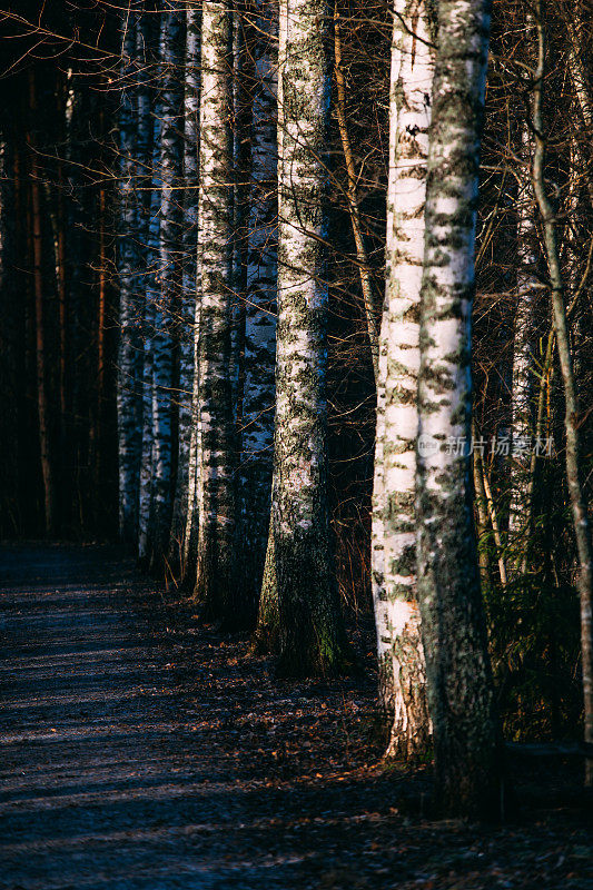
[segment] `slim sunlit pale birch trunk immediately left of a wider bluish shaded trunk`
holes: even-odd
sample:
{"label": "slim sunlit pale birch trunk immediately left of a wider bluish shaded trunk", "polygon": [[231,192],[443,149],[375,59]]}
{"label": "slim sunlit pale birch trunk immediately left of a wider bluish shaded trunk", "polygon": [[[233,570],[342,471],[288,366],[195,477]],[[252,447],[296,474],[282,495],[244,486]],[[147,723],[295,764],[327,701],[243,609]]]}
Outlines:
{"label": "slim sunlit pale birch trunk immediately left of a wider bluish shaded trunk", "polygon": [[231,4],[202,6],[198,222],[200,434],[196,596],[231,620],[235,479],[230,390],[233,142]]}

